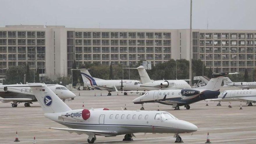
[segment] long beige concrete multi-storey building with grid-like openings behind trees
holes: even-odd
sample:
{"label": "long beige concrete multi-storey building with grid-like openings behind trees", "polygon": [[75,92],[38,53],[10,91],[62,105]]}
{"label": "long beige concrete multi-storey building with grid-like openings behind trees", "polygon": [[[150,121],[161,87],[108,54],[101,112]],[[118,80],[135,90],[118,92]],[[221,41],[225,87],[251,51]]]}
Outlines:
{"label": "long beige concrete multi-storey building with grid-like openings behind trees", "polygon": [[[193,58],[207,67],[243,72],[255,66],[256,31],[193,29]],[[0,76],[28,63],[48,77],[70,74],[73,61],[110,65],[189,60],[189,29],[83,29],[13,25],[0,28]],[[250,71],[250,69],[248,69]]]}

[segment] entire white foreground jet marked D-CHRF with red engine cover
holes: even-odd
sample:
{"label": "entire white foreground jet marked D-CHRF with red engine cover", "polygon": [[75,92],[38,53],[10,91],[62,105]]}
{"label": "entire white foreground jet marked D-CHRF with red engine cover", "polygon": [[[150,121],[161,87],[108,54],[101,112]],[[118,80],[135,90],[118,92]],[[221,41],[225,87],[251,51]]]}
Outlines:
{"label": "entire white foreground jet marked D-CHRF with red engine cover", "polygon": [[56,130],[87,134],[88,143],[94,143],[96,135],[117,136],[125,134],[123,141],[131,141],[135,133],[174,133],[177,142],[179,134],[197,131],[190,122],[179,120],[165,111],[125,111],[109,109],[72,110],[42,83],[29,83],[38,99],[45,117],[69,128]]}

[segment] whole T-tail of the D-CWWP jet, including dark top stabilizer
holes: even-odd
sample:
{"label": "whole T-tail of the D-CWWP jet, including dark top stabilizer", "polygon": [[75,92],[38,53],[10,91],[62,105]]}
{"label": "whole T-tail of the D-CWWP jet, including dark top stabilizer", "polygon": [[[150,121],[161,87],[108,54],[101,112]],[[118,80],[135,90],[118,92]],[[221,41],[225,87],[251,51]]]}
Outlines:
{"label": "whole T-tail of the D-CWWP jet, including dark top stabilizer", "polygon": [[207,90],[219,90],[221,88],[221,83],[223,81],[223,76],[228,73],[213,73],[212,78],[207,83],[206,86],[201,86],[195,89],[207,89]]}

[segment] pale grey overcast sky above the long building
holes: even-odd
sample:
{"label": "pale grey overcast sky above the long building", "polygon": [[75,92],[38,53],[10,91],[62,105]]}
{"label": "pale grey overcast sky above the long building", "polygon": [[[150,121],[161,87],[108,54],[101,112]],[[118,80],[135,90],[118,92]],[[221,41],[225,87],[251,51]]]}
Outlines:
{"label": "pale grey overcast sky above the long building", "polygon": [[[0,27],[189,29],[190,0],[0,0]],[[256,0],[193,0],[193,29],[256,29]]]}

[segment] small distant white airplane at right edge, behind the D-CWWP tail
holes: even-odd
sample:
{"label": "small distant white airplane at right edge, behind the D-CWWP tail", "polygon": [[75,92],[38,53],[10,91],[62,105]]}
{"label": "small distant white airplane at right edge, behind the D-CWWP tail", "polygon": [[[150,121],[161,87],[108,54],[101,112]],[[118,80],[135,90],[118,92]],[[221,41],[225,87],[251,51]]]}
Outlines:
{"label": "small distant white airplane at right edge, behind the D-CWWP tail", "polygon": [[236,88],[256,88],[256,82],[232,82],[228,77],[223,79],[224,86]]}

